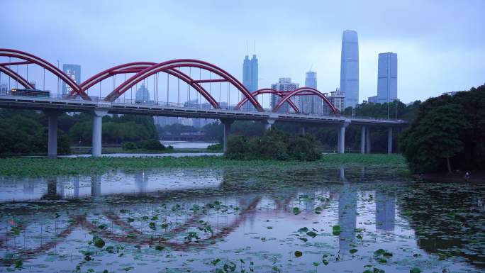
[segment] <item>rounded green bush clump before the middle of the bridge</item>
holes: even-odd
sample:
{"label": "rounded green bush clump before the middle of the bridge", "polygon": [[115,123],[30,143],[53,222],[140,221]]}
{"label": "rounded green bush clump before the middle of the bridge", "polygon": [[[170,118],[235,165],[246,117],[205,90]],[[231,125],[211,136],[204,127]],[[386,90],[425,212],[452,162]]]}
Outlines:
{"label": "rounded green bush clump before the middle of the bridge", "polygon": [[259,136],[231,135],[225,156],[235,160],[299,160],[320,159],[316,140],[311,135],[290,135],[277,128]]}

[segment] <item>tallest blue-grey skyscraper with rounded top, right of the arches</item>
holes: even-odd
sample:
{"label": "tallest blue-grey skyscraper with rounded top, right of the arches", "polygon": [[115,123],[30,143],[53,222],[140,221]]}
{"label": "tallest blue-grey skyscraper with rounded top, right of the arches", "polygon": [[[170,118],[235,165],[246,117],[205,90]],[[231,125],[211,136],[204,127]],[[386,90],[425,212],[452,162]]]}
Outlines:
{"label": "tallest blue-grey skyscraper with rounded top, right of the arches", "polygon": [[359,103],[359,40],[354,30],[345,30],[342,35],[340,90],[345,92],[345,107]]}

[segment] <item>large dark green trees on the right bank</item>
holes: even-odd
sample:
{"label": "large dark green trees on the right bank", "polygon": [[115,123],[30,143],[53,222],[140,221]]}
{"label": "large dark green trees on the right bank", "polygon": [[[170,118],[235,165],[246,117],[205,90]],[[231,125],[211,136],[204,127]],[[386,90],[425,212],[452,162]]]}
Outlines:
{"label": "large dark green trees on the right bank", "polygon": [[484,169],[485,85],[420,104],[401,143],[413,172]]}

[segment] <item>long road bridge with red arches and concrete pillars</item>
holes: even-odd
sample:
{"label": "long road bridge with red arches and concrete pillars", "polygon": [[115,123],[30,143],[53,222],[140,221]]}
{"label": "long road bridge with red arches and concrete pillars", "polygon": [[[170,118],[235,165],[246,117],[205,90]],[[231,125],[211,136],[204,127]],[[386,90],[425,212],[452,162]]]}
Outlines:
{"label": "long road bridge with red arches and concrete pillars", "polygon": [[[0,92],[0,107],[44,111],[49,121],[50,157],[57,156],[57,117],[62,112],[92,113],[93,156],[101,156],[101,118],[109,113],[219,119],[224,125],[224,150],[230,124],[235,120],[261,121],[267,128],[275,121],[335,126],[338,128],[338,152],[341,153],[345,150],[345,128],[349,125],[362,128],[362,153],[371,151],[370,127],[389,128],[388,152],[391,153],[393,128],[407,125],[401,120],[341,116],[326,94],[308,87],[293,91],[260,89],[250,92],[224,69],[201,60],[129,62],[108,68],[78,84],[79,81],[59,69],[58,64],[53,65],[28,52],[4,48],[0,49],[0,57],[5,59],[0,62],[0,82],[2,75],[9,81],[9,87]],[[57,81],[57,93],[46,91],[46,72],[51,82]],[[33,77],[42,78],[38,81],[42,82],[42,88],[31,81]],[[147,91],[151,84],[152,98]],[[63,92],[60,91],[61,85]],[[263,108],[258,100],[262,99],[264,103],[265,94],[279,98],[271,109]],[[328,113],[301,111],[296,101],[308,99],[308,96],[311,96],[313,106]],[[181,103],[181,98],[186,102]]]}

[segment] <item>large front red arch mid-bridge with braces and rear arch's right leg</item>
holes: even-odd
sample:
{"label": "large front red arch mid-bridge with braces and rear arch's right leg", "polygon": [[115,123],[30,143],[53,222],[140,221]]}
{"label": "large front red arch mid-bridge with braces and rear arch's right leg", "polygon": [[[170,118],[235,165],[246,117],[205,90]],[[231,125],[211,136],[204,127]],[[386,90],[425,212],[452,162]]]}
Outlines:
{"label": "large front red arch mid-bridge with braces and rear arch's right leg", "polygon": [[[190,77],[186,76],[186,74],[180,72],[177,68],[179,67],[196,67],[200,69],[205,69],[209,72],[213,72],[217,74],[219,77],[222,77],[223,80],[219,79],[209,79],[209,80],[194,80]],[[157,65],[153,65],[151,67],[147,67],[142,71],[138,72],[137,74],[130,77],[130,79],[126,80],[120,84],[115,90],[113,90],[108,96],[106,96],[105,101],[114,101],[116,100],[121,94],[126,92],[128,89],[133,87],[133,85],[137,84],[138,82],[150,77],[152,74],[156,74],[158,72],[167,72],[172,73],[175,77],[179,77],[180,79],[184,80],[194,88],[198,89],[198,91],[204,90],[199,83],[201,82],[230,82],[233,84],[244,96],[248,98],[252,105],[258,109],[258,111],[264,111],[262,106],[257,102],[255,98],[253,98],[250,94],[250,91],[241,84],[238,79],[233,77],[233,75],[225,72],[223,69],[217,67],[216,65],[212,65],[208,62],[204,62],[201,60],[193,60],[193,59],[179,59],[179,60],[170,60],[167,62],[160,62]],[[198,86],[198,87],[197,87]],[[201,94],[216,108],[219,108],[217,101],[212,98],[210,94],[207,92],[201,91]]]}

